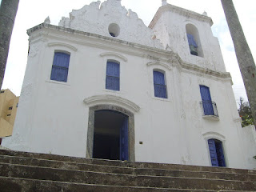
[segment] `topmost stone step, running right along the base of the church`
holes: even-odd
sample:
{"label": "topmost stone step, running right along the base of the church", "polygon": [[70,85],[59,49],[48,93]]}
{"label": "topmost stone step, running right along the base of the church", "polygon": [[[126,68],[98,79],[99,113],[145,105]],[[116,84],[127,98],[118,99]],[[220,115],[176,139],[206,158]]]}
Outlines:
{"label": "topmost stone step, running right along the base of the church", "polygon": [[78,163],[86,163],[86,164],[102,165],[102,166],[104,165],[104,166],[133,167],[133,168],[150,168],[150,169],[163,169],[163,170],[208,171],[208,172],[256,175],[256,170],[242,170],[242,169],[233,169],[233,168],[226,168],[226,167],[187,166],[187,165],[154,163],[154,162],[126,162],[126,161],[115,161],[115,160],[96,159],[96,158],[74,158],[74,157],[61,156],[56,154],[38,154],[38,153],[28,153],[28,152],[14,151],[14,150],[0,150],[0,154],[16,156],[16,157],[56,160],[56,161],[62,161],[62,162],[78,162]]}

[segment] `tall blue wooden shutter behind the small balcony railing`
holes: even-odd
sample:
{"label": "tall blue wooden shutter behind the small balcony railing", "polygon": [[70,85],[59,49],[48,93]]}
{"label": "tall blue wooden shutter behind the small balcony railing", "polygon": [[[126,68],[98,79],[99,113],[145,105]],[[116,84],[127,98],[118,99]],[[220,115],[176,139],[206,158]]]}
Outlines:
{"label": "tall blue wooden shutter behind the small balcony railing", "polygon": [[214,107],[210,98],[210,90],[207,86],[200,86],[200,93],[202,97],[202,107],[205,115],[214,115]]}

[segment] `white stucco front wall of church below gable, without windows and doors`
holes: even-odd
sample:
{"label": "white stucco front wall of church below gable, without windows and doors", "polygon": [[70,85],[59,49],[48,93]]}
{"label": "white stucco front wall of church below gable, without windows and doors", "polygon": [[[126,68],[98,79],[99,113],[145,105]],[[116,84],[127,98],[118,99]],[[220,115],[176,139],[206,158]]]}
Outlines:
{"label": "white stucco front wall of church below gable, without windows and doors", "polygon": [[[198,30],[203,30],[201,27]],[[3,146],[85,158],[89,108],[108,104],[134,114],[135,161],[211,166],[207,140],[216,138],[223,143],[228,167],[255,167],[249,157],[254,152],[244,150],[253,139],[241,142],[249,132],[242,132],[230,75],[221,68],[222,63],[214,66],[221,73],[200,66],[202,63],[198,67],[194,60],[190,63],[194,56],[178,46],[178,54],[174,54],[168,49],[48,24],[28,33],[30,54],[14,134],[3,140]],[[70,53],[67,82],[50,80],[56,50]],[[120,62],[120,91],[105,88],[108,59]],[[165,73],[168,98],[154,97],[154,69]],[[200,85],[210,87],[219,118],[202,117]]]}

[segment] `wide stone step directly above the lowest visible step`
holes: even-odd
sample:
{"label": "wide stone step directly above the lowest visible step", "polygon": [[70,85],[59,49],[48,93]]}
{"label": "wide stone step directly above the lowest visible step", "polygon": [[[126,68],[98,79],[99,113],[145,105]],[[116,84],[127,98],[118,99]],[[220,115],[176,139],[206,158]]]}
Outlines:
{"label": "wide stone step directly above the lowest visible step", "polygon": [[[242,190],[256,191],[256,182],[239,182],[222,179],[158,177],[130,174],[110,174],[81,170],[64,170],[49,167],[0,164],[0,176],[29,178],[57,182],[106,186],[140,186],[184,190]],[[1,189],[1,188],[0,188]]]}

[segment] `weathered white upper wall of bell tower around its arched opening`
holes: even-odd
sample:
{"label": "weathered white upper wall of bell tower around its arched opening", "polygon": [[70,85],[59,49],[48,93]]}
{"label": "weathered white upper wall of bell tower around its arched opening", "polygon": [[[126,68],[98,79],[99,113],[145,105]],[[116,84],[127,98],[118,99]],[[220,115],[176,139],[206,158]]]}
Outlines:
{"label": "weathered white upper wall of bell tower around its arched opening", "polygon": [[[186,37],[186,25],[191,24],[198,30],[203,56],[190,54],[190,47]],[[211,18],[184,10],[177,6],[166,5],[158,9],[150,28],[154,30],[156,38],[160,39],[163,46],[170,47],[182,58],[184,62],[193,63],[210,70],[226,71],[218,38],[212,34],[210,26],[213,24]]]}

